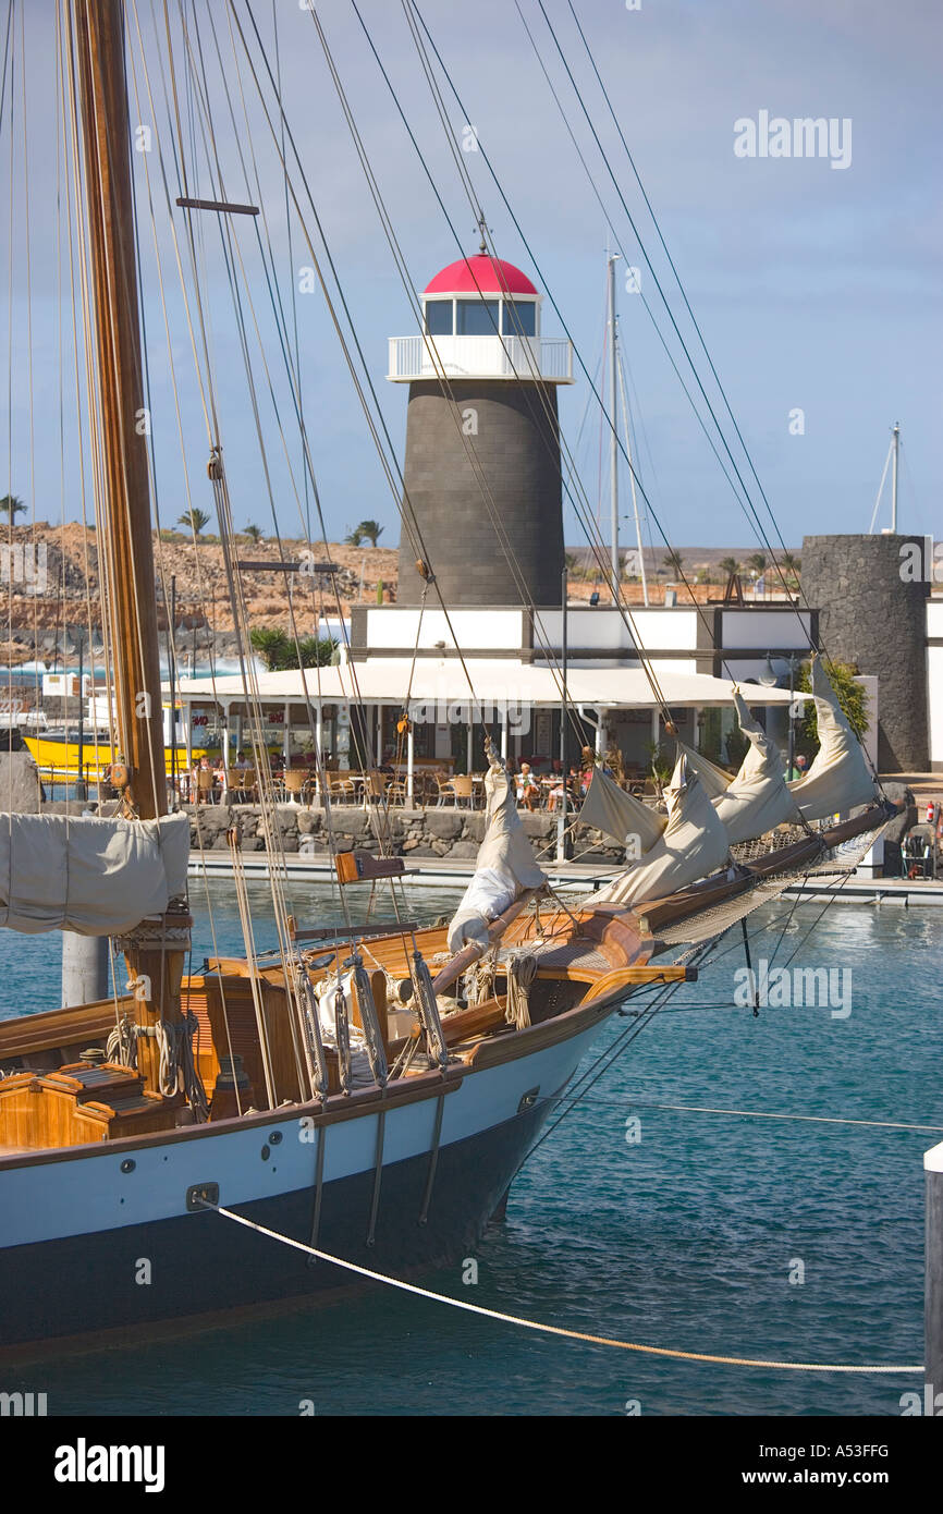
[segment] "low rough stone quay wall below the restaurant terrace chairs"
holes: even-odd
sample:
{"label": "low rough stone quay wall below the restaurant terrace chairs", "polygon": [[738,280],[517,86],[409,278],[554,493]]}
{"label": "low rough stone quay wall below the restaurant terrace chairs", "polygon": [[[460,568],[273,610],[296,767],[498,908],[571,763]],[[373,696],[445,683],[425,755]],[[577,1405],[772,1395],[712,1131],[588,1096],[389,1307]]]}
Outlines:
{"label": "low rough stone quay wall below the restaurant terrace chairs", "polygon": [[[265,837],[257,805],[253,804],[201,804],[188,810],[191,818],[191,846],[206,851],[227,851],[227,831],[236,825],[239,845],[245,852],[265,851]],[[279,805],[282,845],[286,852],[307,852],[327,857],[330,852],[325,813],[307,805]],[[359,805],[335,804],[331,808],[335,851],[378,852],[377,816],[368,815]],[[383,816],[378,818],[383,822]],[[539,860],[556,855],[557,818],[554,815],[521,815],[521,822],[531,839]],[[397,857],[448,857],[454,861],[472,863],[484,834],[483,810],[433,808],[391,810],[389,827],[392,852]],[[589,852],[586,849],[589,848]],[[621,860],[622,848],[610,837],[578,825],[571,840],[572,855],[586,852],[587,861]]]}

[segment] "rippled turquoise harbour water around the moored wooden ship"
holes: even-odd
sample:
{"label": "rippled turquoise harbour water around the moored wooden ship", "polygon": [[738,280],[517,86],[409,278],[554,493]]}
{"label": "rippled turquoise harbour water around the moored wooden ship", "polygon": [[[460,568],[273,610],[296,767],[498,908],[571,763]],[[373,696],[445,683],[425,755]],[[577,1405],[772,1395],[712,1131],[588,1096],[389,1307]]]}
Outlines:
{"label": "rippled turquoise harbour water around the moored wooden ship", "polygon": [[[232,890],[210,886],[219,949]],[[257,921],[268,890],[253,889]],[[328,917],[327,890],[298,889]],[[415,892],[419,914],[453,895]],[[195,901],[194,964],[212,951]],[[851,1014],[730,1008],[739,933],[639,1033],[515,1182],[507,1222],[430,1285],[580,1331],[720,1355],[919,1363],[922,1154],[938,1134],[654,1110],[696,1104],[943,1128],[937,911],[795,911],[776,964],[851,970]],[[789,907],[757,916],[772,955]],[[775,922],[775,924],[773,924]],[[266,945],[263,927],[259,945]],[[727,955],[719,955],[727,952]],[[48,940],[0,937],[3,1013],[56,999]],[[44,1001],[41,1002],[41,999]],[[598,1043],[631,1025],[616,1019]],[[640,1140],[627,1143],[627,1117]],[[802,1264],[802,1267],[798,1266]],[[468,1272],[468,1269],[465,1269]],[[790,1284],[790,1272],[804,1282]],[[185,1287],[182,1279],[182,1287]],[[884,1414],[920,1378],[808,1376],[637,1357],[391,1291],[277,1320],[24,1369],[50,1414]],[[15,1376],[15,1373],[14,1373]],[[6,1375],[9,1378],[9,1373]],[[12,1390],[15,1381],[6,1381]]]}

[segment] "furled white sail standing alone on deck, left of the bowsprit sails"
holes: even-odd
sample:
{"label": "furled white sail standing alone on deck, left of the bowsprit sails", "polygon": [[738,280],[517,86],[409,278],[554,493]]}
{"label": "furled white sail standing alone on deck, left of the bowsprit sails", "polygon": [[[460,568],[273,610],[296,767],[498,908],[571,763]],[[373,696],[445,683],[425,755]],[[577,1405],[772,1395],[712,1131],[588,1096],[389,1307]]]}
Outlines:
{"label": "furled white sail standing alone on deck, left of the bowsprit sails", "polygon": [[518,815],[516,795],[501,759],[489,751],[484,775],[487,796],[484,840],[478,848],[475,874],[462,895],[448,927],[448,949],[462,951],[466,942],[484,942],[487,927],[524,889],[539,889],[546,877],[530,848]]}

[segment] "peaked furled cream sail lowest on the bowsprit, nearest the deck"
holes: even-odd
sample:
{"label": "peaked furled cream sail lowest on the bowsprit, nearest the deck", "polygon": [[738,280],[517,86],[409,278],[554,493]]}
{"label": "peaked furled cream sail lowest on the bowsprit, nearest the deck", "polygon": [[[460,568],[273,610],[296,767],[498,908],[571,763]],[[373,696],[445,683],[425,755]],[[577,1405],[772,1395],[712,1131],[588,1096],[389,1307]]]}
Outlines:
{"label": "peaked furled cream sail lowest on the bowsprit, nearest the deck", "polygon": [[666,899],[698,878],[722,868],[730,839],[701,780],[690,772],[684,752],[678,757],[666,792],[669,819],[655,845],[639,863],[627,868],[593,904],[625,904]]}

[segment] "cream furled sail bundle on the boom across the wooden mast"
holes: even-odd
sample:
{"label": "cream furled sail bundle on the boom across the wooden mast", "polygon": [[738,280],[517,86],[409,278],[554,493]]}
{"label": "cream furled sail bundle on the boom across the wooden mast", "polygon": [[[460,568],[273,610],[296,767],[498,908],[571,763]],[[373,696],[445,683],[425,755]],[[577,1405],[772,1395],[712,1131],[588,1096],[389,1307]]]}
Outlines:
{"label": "cream furled sail bundle on the boom across the wooden mast", "polygon": [[0,925],[112,936],[186,892],[189,819],[0,816]]}

